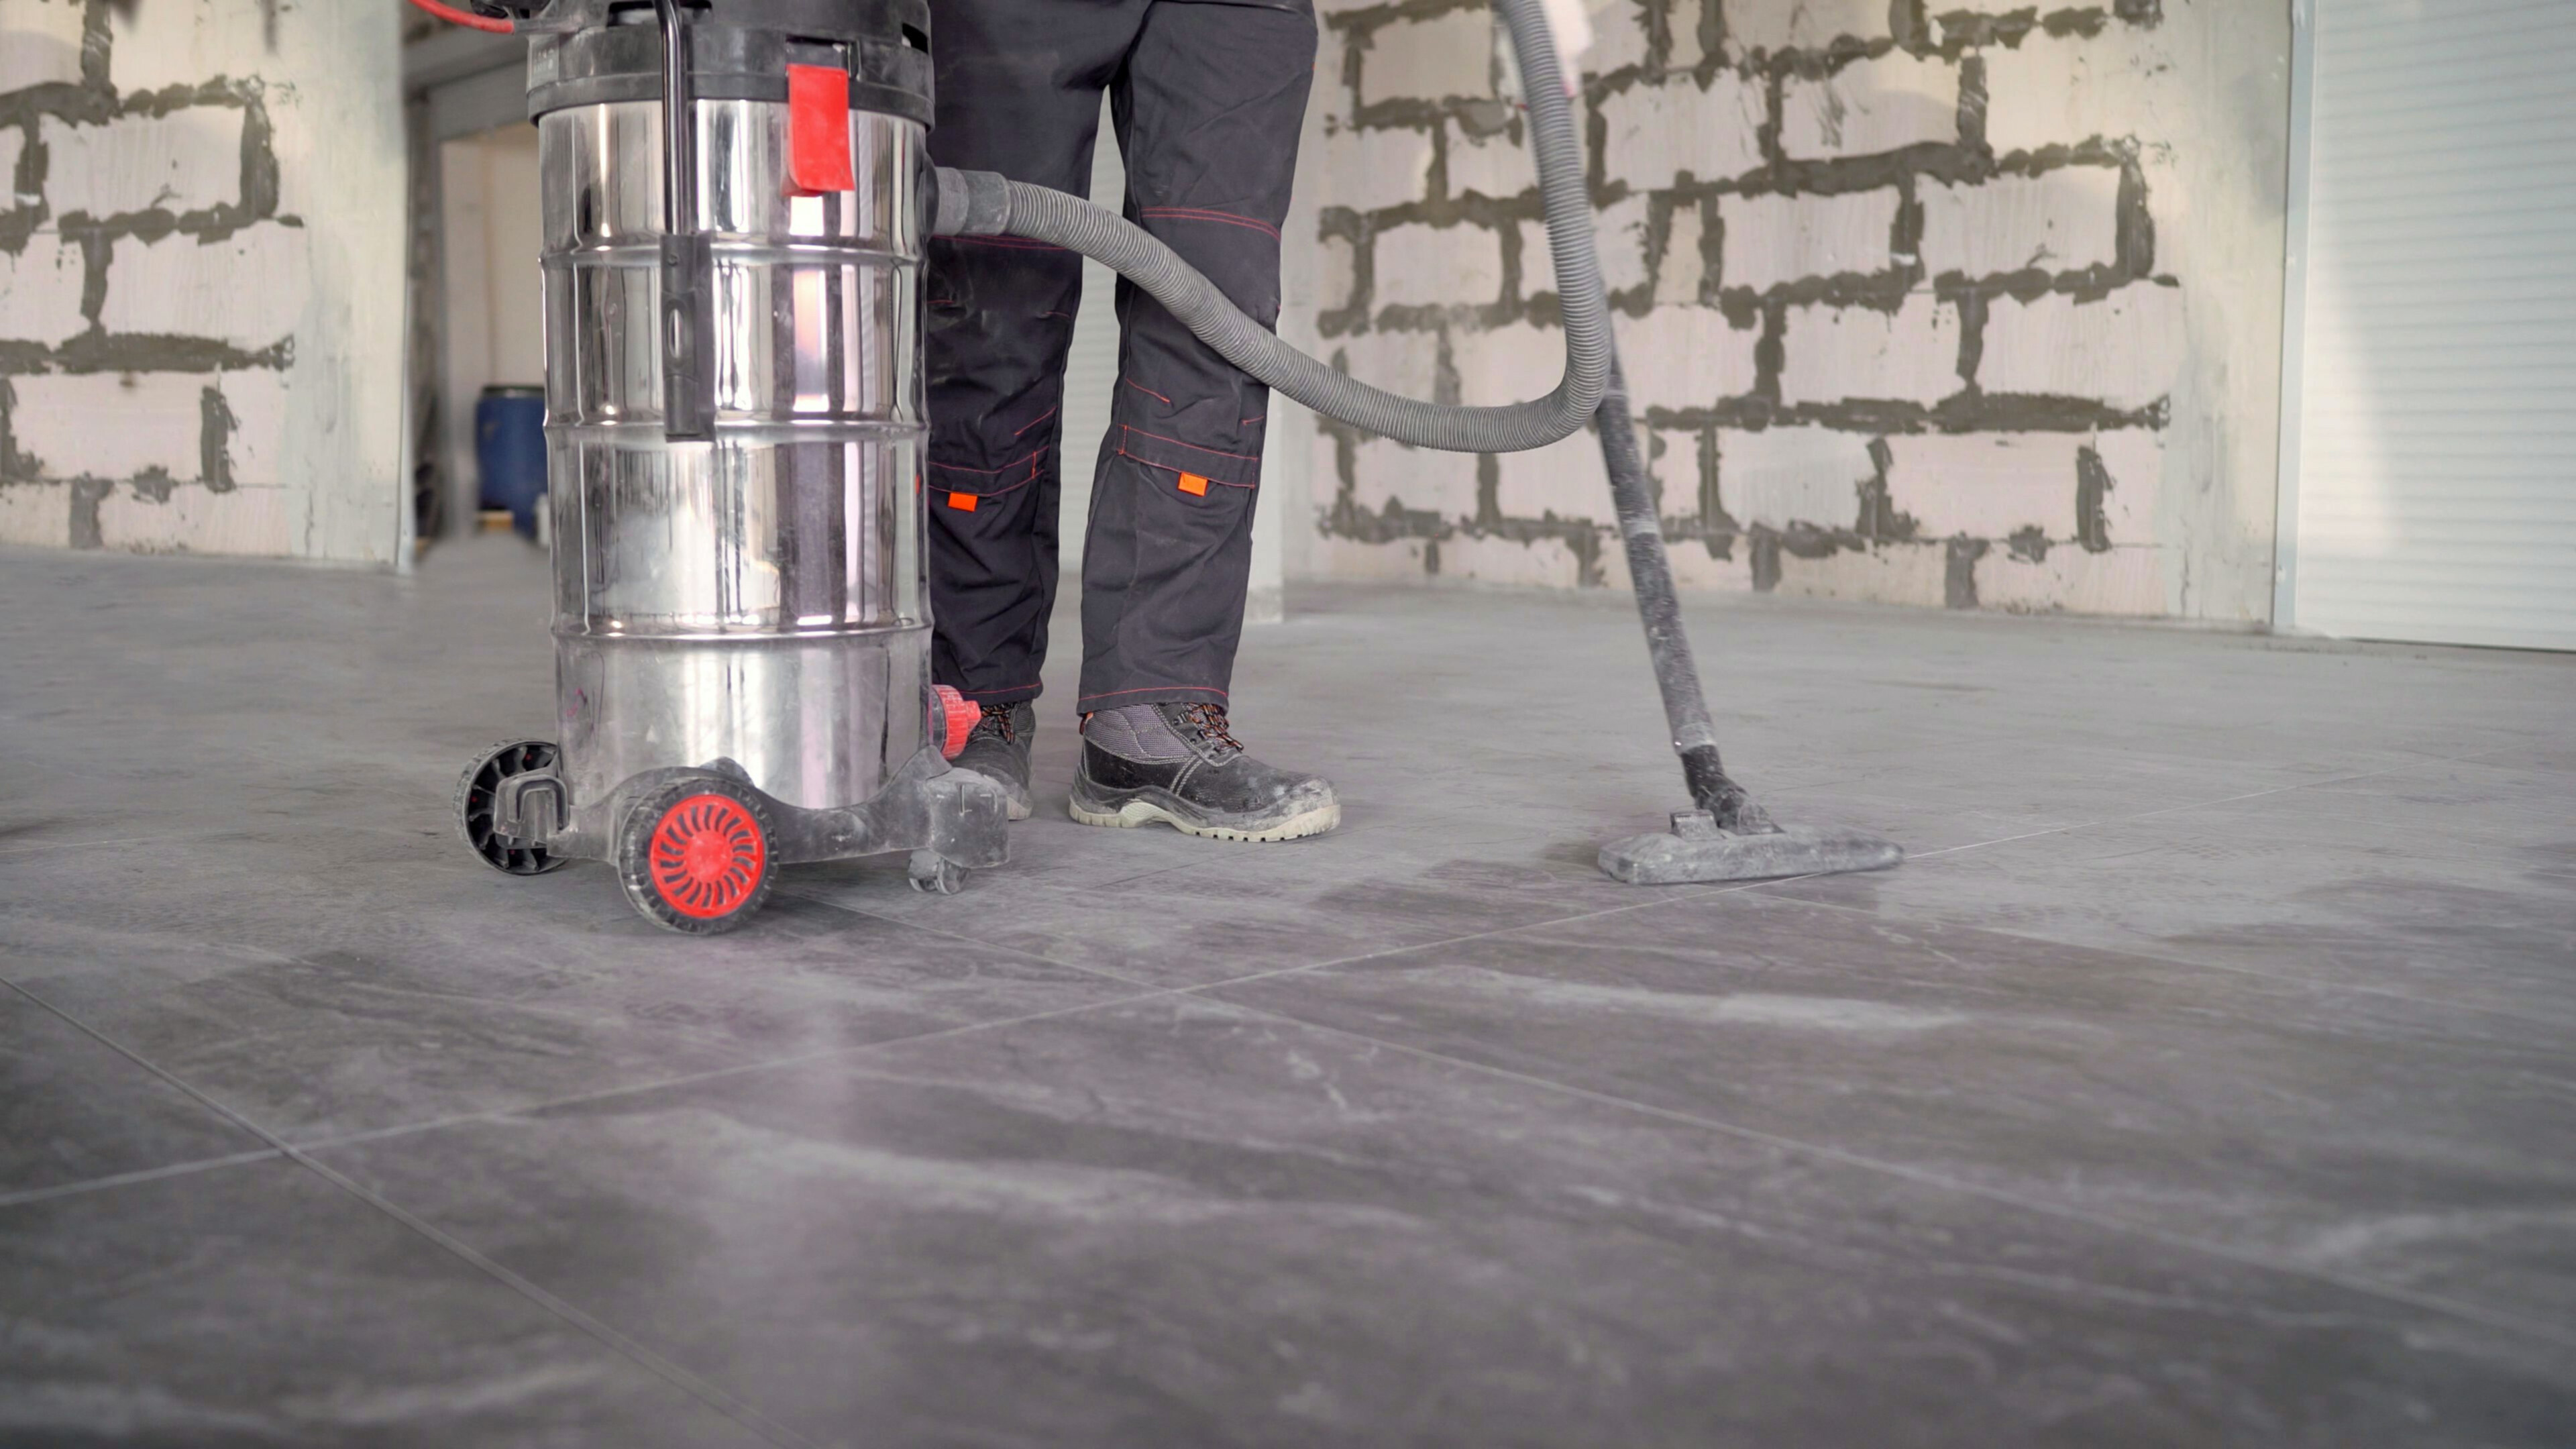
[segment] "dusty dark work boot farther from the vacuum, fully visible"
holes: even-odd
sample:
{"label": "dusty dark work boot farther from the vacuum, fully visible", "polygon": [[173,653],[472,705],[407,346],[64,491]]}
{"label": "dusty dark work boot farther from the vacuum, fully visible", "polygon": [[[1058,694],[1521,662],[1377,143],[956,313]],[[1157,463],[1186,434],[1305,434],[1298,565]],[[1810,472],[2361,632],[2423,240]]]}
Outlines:
{"label": "dusty dark work boot farther from the vacuum, fully visible", "polygon": [[1303,841],[1342,822],[1332,781],[1275,771],[1213,704],[1128,704],[1082,719],[1074,820],[1164,825],[1211,841]]}

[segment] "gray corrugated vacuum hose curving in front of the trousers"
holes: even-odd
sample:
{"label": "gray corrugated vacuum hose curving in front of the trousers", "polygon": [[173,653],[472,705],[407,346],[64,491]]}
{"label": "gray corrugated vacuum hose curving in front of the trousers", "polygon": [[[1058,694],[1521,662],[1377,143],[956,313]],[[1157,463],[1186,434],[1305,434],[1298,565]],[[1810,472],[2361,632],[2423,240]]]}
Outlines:
{"label": "gray corrugated vacuum hose curving in front of the trousers", "polygon": [[1610,371],[1610,304],[1592,255],[1592,196],[1574,108],[1556,72],[1556,44],[1540,0],[1494,0],[1520,52],[1530,103],[1530,152],[1548,204],[1548,248],[1556,253],[1556,297],[1566,327],[1566,376],[1556,392],[1504,407],[1445,407],[1396,397],[1345,376],[1291,348],[1244,317],[1206,276],[1141,227],[1079,196],[1007,180],[989,170],[938,173],[938,237],[1010,235],[1082,253],[1162,302],[1218,356],[1327,418],[1355,423],[1399,443],[1458,454],[1517,454],[1571,436],[1602,400]]}

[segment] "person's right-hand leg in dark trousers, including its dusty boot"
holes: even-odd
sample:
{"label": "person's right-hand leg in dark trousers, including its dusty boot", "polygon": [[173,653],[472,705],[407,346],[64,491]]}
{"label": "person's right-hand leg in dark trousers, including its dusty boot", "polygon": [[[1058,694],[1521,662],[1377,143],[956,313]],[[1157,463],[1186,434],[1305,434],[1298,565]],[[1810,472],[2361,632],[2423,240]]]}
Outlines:
{"label": "person's right-hand leg in dark trousers, including its dusty boot", "polygon": [[[1280,309],[1280,222],[1311,85],[1303,0],[1157,0],[1110,90],[1128,219],[1265,325]],[[1128,284],[1118,320],[1118,397],[1082,554],[1074,820],[1226,841],[1332,830],[1332,784],[1265,766],[1226,722],[1270,389]]]}

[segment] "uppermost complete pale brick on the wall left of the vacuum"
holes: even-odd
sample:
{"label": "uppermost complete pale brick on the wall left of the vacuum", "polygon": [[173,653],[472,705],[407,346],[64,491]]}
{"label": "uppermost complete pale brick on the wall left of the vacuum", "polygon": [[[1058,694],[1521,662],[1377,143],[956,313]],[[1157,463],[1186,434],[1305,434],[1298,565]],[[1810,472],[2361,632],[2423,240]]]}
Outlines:
{"label": "uppermost complete pale brick on the wall left of the vacuum", "polygon": [[240,106],[118,116],[103,126],[44,119],[46,201],[57,217],[206,211],[242,199]]}

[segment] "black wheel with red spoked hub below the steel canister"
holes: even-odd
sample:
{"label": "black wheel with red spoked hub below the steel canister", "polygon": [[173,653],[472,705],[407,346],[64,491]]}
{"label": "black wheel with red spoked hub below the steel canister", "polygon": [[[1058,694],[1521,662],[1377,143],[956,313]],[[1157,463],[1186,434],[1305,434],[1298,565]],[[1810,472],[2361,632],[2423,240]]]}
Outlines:
{"label": "black wheel with red spoked hub below the steel canister", "polygon": [[760,913],[778,874],[770,812],[724,776],[665,784],[618,825],[618,884],[654,926],[716,936]]}

